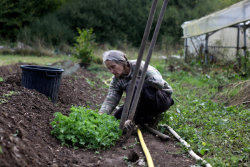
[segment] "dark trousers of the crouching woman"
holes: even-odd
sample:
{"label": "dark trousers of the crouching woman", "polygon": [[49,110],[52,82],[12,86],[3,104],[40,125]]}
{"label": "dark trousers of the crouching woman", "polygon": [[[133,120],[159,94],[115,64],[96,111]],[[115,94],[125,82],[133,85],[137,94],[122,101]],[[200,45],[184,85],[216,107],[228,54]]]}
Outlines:
{"label": "dark trousers of the crouching woman", "polygon": [[[127,89],[128,90],[128,89]],[[128,91],[127,91],[128,92]],[[136,124],[154,125],[159,115],[174,104],[171,95],[144,83],[141,96],[137,104],[134,121]],[[121,119],[123,106],[115,111],[114,116]]]}

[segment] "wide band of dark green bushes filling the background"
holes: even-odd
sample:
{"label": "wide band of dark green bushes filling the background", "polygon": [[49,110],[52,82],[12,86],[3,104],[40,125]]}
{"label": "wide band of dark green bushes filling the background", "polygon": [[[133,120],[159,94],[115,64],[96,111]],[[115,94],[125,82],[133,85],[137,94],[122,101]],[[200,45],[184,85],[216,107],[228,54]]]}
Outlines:
{"label": "wide band of dark green bushes filling the background", "polygon": [[[3,0],[3,2],[5,1],[8,0]],[[167,46],[179,44],[183,22],[202,17],[237,1],[239,0],[169,1],[157,43],[162,44],[164,48],[166,48],[166,44]],[[74,36],[77,34],[77,27],[80,29],[93,28],[98,43],[109,43],[118,47],[122,46],[123,43],[139,46],[152,3],[150,0],[65,0],[56,2],[56,0],[42,2],[41,0],[34,2],[28,0],[22,3],[25,4],[23,6],[20,6],[21,3],[14,4],[14,7],[10,9],[11,12],[15,10],[18,12],[16,12],[17,14],[14,12],[12,17],[3,14],[2,20],[4,21],[0,25],[4,25],[4,27],[0,27],[0,31],[2,31],[0,34],[16,36],[16,33],[21,29],[19,39],[22,39],[26,33],[30,39],[35,38],[44,43],[58,46],[60,43],[72,45]],[[163,0],[158,2],[152,32],[162,2]],[[45,8],[46,5],[48,8]],[[6,5],[2,8],[9,9]],[[37,12],[33,13],[33,9]],[[52,11],[54,12],[52,13]],[[27,25],[28,27],[26,27]]]}

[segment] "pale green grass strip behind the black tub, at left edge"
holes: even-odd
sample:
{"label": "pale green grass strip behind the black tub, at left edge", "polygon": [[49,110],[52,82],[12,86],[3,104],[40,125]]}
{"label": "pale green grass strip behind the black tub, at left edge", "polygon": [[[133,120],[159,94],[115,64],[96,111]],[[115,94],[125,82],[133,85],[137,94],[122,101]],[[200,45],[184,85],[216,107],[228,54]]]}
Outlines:
{"label": "pale green grass strip behind the black tub, at left edge", "polygon": [[[15,64],[15,63],[35,63],[39,65],[51,65],[55,62],[72,60],[69,56],[23,56],[23,55],[0,55],[0,66]],[[75,61],[75,60],[74,60]]]}

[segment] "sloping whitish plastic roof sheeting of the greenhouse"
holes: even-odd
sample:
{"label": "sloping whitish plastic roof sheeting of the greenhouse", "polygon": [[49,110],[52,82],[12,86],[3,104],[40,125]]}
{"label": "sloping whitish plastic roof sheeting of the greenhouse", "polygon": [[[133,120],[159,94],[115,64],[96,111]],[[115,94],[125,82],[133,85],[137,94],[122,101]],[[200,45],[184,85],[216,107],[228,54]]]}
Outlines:
{"label": "sloping whitish plastic roof sheeting of the greenhouse", "polygon": [[250,0],[244,0],[228,8],[197,20],[184,22],[183,38],[202,35],[250,20]]}

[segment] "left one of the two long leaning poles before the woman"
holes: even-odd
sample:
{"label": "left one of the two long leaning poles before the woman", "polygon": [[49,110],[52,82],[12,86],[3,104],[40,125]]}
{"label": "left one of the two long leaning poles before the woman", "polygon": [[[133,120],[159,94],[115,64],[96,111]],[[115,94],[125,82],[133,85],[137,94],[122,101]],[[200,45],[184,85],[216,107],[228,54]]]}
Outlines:
{"label": "left one of the two long leaning poles before the woman", "polygon": [[141,66],[141,61],[142,61],[142,58],[143,58],[143,53],[144,53],[144,50],[145,50],[146,42],[147,42],[147,39],[148,39],[148,36],[149,36],[149,33],[150,33],[150,29],[151,29],[151,25],[152,25],[152,22],[153,22],[153,18],[154,18],[156,6],[157,6],[157,1],[158,0],[154,0],[152,2],[152,7],[150,9],[149,17],[148,17],[148,20],[147,20],[146,28],[145,28],[145,31],[144,31],[144,34],[143,34],[143,38],[142,38],[142,42],[141,42],[141,46],[140,46],[140,50],[139,50],[139,54],[138,54],[138,58],[137,58],[137,61],[136,61],[134,75],[132,77],[131,84],[130,84],[129,90],[128,90],[128,94],[127,94],[127,97],[126,97],[126,100],[125,100],[125,103],[124,103],[124,107],[123,107],[123,110],[122,110],[122,116],[121,116],[121,121],[120,121],[120,128],[121,129],[123,128],[125,120],[128,117],[128,112],[129,112],[129,109],[130,109],[132,97],[133,97],[134,90],[135,90],[135,82],[136,82],[137,75],[139,73],[139,69],[140,69],[140,66]]}

